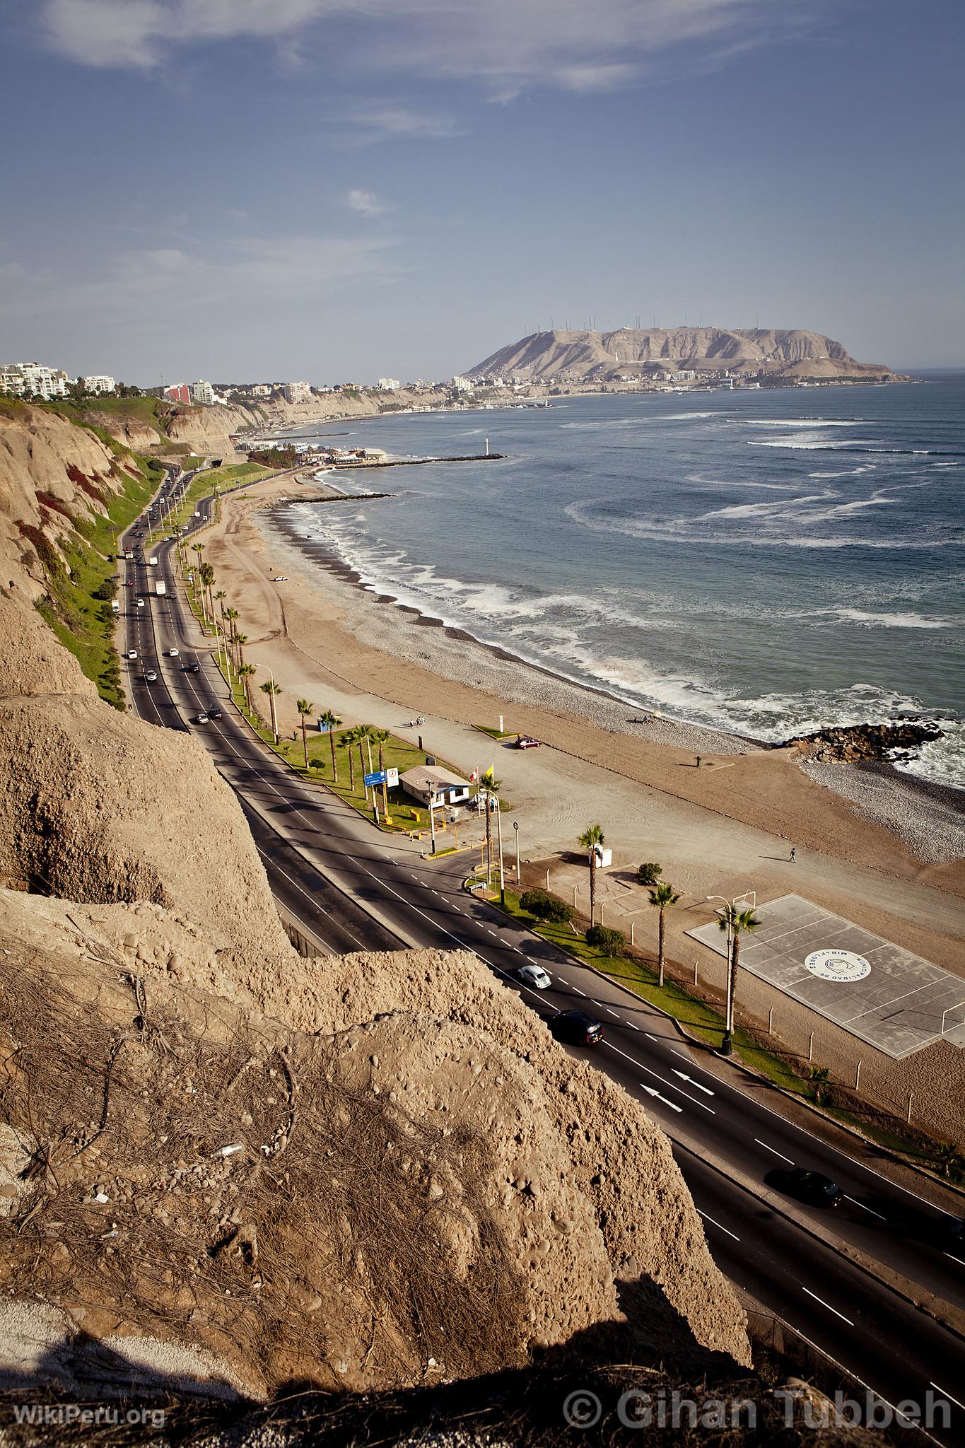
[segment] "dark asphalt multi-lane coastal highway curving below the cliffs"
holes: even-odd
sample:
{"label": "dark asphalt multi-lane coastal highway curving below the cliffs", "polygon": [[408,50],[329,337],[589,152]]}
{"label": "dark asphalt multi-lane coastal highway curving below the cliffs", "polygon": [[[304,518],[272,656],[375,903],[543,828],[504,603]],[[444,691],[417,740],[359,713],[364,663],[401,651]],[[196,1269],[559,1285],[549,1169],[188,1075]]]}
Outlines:
{"label": "dark asphalt multi-lane coastal highway curving below the cliffs", "polygon": [[[188,481],[169,478],[165,491]],[[210,505],[198,505],[195,527]],[[706,1070],[703,1053],[642,1001],[469,896],[462,889],[467,856],[424,860],[412,841],[381,834],[337,796],[291,773],[227,701],[211,641],[203,641],[175,586],[171,552],[162,544],[156,568],[124,565],[133,586],[120,589],[123,639],[137,653],[127,660],[127,692],[142,718],[188,728],[208,749],[239,795],[273,893],[304,933],[323,953],[466,948],[509,982],[524,961],[543,964],[553,976],[548,990],[516,989],[550,1027],[573,1006],[605,1024],[606,1038],[590,1058],[674,1141],[720,1268],[885,1402],[924,1403],[938,1389],[952,1419],[932,1436],[964,1442],[965,1342],[877,1274],[900,1274],[907,1290],[965,1310],[965,1260],[961,1248],[945,1250],[942,1212],[881,1174],[883,1153],[843,1132],[832,1145],[784,1119],[768,1105],[778,1098],[767,1085],[736,1069],[723,1077]],[[166,585],[162,598],[150,592],[158,578]],[[171,647],[179,650],[175,657]],[[158,673],[155,683],[145,682],[149,670]],[[194,723],[210,707],[223,717]],[[843,1205],[828,1211],[788,1197],[783,1173],[791,1166],[832,1176]],[[952,1202],[949,1195],[949,1211]]]}

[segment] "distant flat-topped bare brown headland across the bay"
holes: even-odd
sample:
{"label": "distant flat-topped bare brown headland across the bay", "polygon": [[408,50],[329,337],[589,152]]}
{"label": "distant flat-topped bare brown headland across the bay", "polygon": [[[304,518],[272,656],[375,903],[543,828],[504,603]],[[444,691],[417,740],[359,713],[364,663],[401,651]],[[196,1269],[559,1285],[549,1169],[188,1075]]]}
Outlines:
{"label": "distant flat-topped bare brown headland across the bay", "polygon": [[619,332],[534,332],[493,352],[466,374],[525,382],[615,382],[661,372],[741,372],[788,378],[891,376],[855,362],[819,332],[729,332],[725,327],[621,327]]}

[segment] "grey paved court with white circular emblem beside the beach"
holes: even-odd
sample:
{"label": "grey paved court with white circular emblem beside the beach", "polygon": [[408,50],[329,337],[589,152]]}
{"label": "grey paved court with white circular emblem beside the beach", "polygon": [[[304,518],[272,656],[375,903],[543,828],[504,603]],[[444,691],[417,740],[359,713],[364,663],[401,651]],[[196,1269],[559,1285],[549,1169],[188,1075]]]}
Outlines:
{"label": "grey paved court with white circular emblem beside the beach", "polygon": [[[965,1048],[965,980],[800,895],[757,908],[739,969],[896,1058],[942,1040]],[[716,921],[687,935],[726,956]]]}

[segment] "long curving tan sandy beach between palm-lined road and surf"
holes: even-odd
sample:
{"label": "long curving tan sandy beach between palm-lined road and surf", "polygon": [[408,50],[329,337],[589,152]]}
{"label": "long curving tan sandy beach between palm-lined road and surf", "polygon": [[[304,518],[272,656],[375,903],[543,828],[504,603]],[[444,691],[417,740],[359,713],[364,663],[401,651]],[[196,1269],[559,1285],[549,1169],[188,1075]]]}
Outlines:
{"label": "long curving tan sandy beach between palm-lined road and surf", "polygon": [[[906,822],[901,837],[881,822],[880,804],[874,818],[825,778],[809,778],[796,750],[667,718],[632,723],[637,712],[602,692],[359,588],[317,546],[305,556],[305,540],[284,537],[276,511],[266,511],[294,495],[324,489],[286,478],[226,498],[205,555],[240,613],[246,657],[259,672],[271,668],[284,689],[284,727],[297,725],[298,696],[336,710],[346,724],[370,721],[409,738],[409,723],[422,714],[427,750],[466,775],[495,763],[531,859],[571,850],[599,820],[615,863],[661,860],[666,876],[699,899],[741,889],[767,899],[793,888],[962,970],[965,830],[956,833],[953,792],[936,798],[932,786],[887,770],[890,822]],[[285,582],[272,582],[279,573]],[[551,747],[522,753],[473,728],[496,727],[501,714],[506,730]],[[909,847],[939,837],[940,863]]]}

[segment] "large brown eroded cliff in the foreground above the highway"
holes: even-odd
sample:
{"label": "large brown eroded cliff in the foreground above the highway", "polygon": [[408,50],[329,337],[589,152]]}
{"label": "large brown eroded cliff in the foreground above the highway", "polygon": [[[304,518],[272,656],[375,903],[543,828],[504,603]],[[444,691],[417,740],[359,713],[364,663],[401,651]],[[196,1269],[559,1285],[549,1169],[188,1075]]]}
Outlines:
{"label": "large brown eroded cliff in the foreground above the highway", "polygon": [[256,1393],[748,1360],[666,1137],[473,956],[298,957],[201,746],[12,599],[0,723],[7,1295]]}

